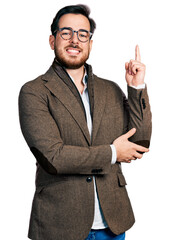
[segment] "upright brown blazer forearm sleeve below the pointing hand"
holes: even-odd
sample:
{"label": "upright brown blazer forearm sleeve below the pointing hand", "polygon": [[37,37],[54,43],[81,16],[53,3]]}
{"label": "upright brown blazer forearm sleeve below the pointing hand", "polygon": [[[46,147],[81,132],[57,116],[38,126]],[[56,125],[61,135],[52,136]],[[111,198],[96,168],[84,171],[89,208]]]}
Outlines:
{"label": "upright brown blazer forearm sleeve below the pointing hand", "polygon": [[128,87],[128,109],[128,130],[136,128],[136,133],[130,138],[130,141],[144,147],[149,147],[152,131],[152,115],[147,87],[144,89]]}

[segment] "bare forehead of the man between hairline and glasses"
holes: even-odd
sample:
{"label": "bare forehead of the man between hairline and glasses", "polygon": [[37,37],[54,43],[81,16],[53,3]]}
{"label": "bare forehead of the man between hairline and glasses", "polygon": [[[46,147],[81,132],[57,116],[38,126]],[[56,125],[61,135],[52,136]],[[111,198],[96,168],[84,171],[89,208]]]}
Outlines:
{"label": "bare forehead of the man between hairline and glasses", "polygon": [[74,30],[86,29],[90,31],[89,20],[82,14],[65,14],[59,20],[59,28],[71,27]]}

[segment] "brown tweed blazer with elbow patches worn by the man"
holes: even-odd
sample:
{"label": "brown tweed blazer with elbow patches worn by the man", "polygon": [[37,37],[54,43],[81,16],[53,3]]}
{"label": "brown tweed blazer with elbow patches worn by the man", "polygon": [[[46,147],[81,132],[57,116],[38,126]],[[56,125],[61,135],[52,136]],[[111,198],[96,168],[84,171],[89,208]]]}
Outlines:
{"label": "brown tweed blazer with elbow patches worn by the man", "polygon": [[115,234],[134,224],[119,163],[110,144],[135,127],[131,141],[147,145],[151,113],[147,89],[128,87],[128,101],[112,81],[88,71],[93,120],[90,138],[80,95],[54,61],[44,75],[26,83],[19,96],[23,135],[37,160],[29,238],[84,240],[94,218],[94,183],[106,222]]}

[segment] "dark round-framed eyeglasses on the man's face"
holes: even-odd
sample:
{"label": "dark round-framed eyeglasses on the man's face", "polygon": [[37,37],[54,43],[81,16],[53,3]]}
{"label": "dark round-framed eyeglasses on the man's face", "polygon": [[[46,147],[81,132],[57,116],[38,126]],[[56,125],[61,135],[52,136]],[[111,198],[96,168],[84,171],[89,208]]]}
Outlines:
{"label": "dark round-framed eyeglasses on the man's face", "polygon": [[79,29],[78,31],[73,30],[72,28],[58,28],[57,30],[54,31],[54,33],[56,33],[57,31],[60,32],[60,36],[62,39],[64,40],[70,40],[73,38],[74,33],[77,33],[77,38],[80,42],[87,42],[89,39],[92,38],[92,33],[84,30],[84,29]]}

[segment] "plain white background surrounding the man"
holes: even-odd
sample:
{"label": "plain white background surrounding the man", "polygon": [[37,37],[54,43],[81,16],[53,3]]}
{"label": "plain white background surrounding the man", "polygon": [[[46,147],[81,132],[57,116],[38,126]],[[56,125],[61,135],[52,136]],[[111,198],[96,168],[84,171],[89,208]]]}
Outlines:
{"label": "plain white background surrounding the man", "polygon": [[[127,240],[169,239],[170,14],[168,0],[6,0],[0,6],[0,238],[26,240],[34,193],[35,159],[20,131],[21,86],[51,65],[48,38],[56,12],[85,3],[97,22],[89,59],[94,72],[126,92],[124,64],[139,44],[153,114],[150,152],[123,164],[136,216]],[[48,239],[47,239],[48,240]],[[75,239],[76,240],[76,239]]]}

